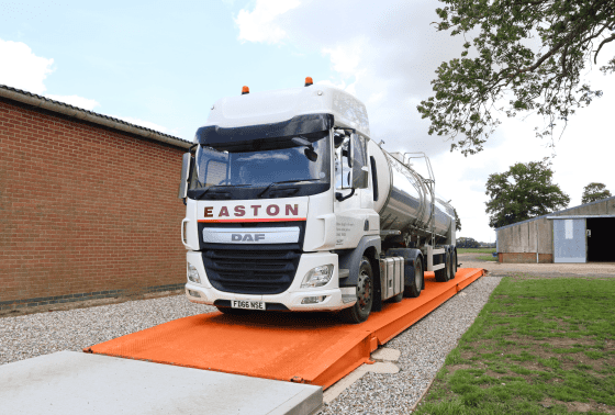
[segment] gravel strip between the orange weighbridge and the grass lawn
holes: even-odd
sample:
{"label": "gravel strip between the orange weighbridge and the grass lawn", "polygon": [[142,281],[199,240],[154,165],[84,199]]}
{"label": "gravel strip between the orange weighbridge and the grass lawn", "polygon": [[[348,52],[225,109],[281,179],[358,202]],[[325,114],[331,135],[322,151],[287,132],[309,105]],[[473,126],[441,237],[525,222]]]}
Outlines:
{"label": "gravel strip between the orange weighbridge and the grass lawn", "polygon": [[478,279],[387,343],[385,347],[401,351],[400,372],[366,373],[318,414],[409,414],[500,281]]}

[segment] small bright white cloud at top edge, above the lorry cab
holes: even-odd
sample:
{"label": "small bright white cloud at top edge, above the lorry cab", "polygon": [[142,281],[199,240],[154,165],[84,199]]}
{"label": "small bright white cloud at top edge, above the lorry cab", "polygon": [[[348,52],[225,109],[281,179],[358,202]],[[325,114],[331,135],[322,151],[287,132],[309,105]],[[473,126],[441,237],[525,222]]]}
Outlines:
{"label": "small bright white cloud at top edge, above the lorry cab", "polygon": [[246,9],[239,10],[234,19],[239,26],[239,41],[281,42],[287,33],[276,21],[299,5],[299,0],[257,0],[251,12]]}

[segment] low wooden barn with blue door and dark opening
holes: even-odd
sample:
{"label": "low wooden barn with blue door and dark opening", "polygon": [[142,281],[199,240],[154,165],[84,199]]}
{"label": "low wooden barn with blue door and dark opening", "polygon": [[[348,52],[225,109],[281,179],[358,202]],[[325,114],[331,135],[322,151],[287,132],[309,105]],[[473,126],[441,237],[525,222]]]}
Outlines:
{"label": "low wooden barn with blue door and dark opening", "polygon": [[495,229],[500,262],[615,262],[615,197]]}

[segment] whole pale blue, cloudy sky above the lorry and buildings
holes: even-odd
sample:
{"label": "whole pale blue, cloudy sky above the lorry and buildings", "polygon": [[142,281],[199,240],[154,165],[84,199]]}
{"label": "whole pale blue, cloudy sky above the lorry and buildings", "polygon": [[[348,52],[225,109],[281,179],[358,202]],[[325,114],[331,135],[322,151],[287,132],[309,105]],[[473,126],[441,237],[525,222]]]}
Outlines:
{"label": "whole pale blue, cloudy sky above the lorry and buildings", "polygon": [[[457,209],[459,236],[494,242],[485,213],[489,175],[550,156],[536,116],[507,119],[478,155],[429,136],[416,105],[433,94],[441,61],[462,37],[436,32],[437,0],[0,0],[0,83],[192,139],[220,98],[315,83],[342,88],[368,111],[371,138],[389,152],[424,152],[436,192]],[[583,187],[615,194],[615,76],[586,68],[604,94],[556,137],[554,182],[581,204]],[[602,61],[602,63],[601,63]],[[558,135],[559,136],[559,135]],[[420,172],[422,166],[416,166]],[[178,172],[179,180],[179,172]]]}

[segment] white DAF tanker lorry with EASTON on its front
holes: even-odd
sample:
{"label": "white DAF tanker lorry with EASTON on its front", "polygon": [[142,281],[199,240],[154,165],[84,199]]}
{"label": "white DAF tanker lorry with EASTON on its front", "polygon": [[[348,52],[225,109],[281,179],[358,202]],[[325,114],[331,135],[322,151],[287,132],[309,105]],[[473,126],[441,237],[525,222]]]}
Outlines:
{"label": "white DAF tanker lorry with EASTON on its front", "polygon": [[370,139],[336,88],[223,98],[185,154],[186,295],[223,313],[338,311],[360,323],[455,278],[455,213],[435,181]]}

